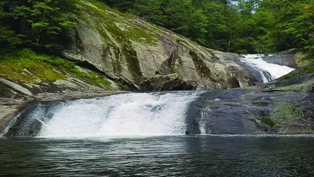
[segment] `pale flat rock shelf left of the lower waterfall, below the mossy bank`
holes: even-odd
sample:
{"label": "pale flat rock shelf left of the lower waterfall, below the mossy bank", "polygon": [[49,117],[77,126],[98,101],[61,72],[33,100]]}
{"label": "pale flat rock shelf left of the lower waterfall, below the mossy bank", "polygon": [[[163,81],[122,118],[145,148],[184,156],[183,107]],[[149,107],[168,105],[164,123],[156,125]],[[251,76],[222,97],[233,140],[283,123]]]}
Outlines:
{"label": "pale flat rock shelf left of the lower waterfall, below the mossy bank", "polygon": [[[91,89],[86,89],[86,86]],[[0,79],[0,90],[0,134],[15,116],[34,102],[78,100],[126,92],[88,83],[74,89],[72,84],[15,82],[4,78]]]}

